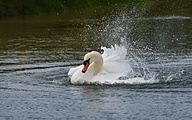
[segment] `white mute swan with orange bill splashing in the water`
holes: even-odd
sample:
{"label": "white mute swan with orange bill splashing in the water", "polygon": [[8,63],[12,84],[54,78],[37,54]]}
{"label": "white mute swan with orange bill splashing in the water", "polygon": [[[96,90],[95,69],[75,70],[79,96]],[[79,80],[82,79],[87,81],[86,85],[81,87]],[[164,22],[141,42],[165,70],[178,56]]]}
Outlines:
{"label": "white mute swan with orange bill splashing in the water", "polygon": [[126,61],[127,50],[123,46],[102,47],[103,54],[92,51],[84,56],[83,65],[68,72],[72,84],[115,83],[118,78],[133,73]]}

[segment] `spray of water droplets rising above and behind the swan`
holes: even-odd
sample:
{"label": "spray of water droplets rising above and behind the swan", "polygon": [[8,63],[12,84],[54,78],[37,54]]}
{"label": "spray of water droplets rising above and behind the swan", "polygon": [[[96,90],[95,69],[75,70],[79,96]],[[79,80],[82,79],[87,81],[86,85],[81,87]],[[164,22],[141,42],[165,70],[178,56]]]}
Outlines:
{"label": "spray of water droplets rising above and behind the swan", "polygon": [[[137,27],[137,20],[143,14],[141,9],[133,8],[131,11],[120,10],[113,12],[111,15],[105,16],[93,25],[87,25],[87,42],[89,42],[87,48],[98,50],[100,46],[110,47],[111,45],[123,45],[127,49],[128,64],[131,65],[134,70],[134,77],[132,81],[127,83],[134,83],[135,78],[143,78],[143,80],[155,80],[155,74],[149,70],[142,55],[142,50],[134,47],[134,36]],[[91,42],[91,44],[90,44]],[[144,83],[145,81],[140,81]],[[139,83],[139,82],[138,82]]]}

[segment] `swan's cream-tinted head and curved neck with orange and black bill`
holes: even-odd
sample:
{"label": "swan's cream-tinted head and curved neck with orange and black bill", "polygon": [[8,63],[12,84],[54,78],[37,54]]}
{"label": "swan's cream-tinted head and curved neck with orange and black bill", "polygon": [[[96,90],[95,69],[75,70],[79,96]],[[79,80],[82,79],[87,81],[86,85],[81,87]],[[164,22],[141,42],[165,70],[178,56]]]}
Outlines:
{"label": "swan's cream-tinted head and curved neck with orange and black bill", "polygon": [[84,56],[82,72],[85,73],[91,64],[93,64],[92,67],[94,67],[95,74],[97,74],[103,66],[103,58],[99,52],[92,51]]}

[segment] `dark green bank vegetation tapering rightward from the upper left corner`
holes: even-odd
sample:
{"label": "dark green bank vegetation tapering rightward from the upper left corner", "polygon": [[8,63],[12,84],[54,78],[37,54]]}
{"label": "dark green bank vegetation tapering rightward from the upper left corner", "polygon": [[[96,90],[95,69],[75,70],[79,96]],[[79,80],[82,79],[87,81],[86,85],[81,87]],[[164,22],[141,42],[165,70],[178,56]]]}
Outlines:
{"label": "dark green bank vegetation tapering rightward from the upper left corner", "polygon": [[0,18],[41,13],[92,11],[142,1],[147,0],[0,0]]}

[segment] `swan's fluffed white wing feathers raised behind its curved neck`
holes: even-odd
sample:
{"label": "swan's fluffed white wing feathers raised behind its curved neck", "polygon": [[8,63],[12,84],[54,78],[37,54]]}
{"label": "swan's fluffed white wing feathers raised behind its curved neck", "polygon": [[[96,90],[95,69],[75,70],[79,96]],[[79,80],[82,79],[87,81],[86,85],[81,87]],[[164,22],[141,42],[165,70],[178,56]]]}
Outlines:
{"label": "swan's fluffed white wing feathers raised behind its curved neck", "polygon": [[[104,53],[102,54],[104,64],[101,71],[103,77],[108,80],[113,80],[127,76],[128,74],[133,74],[133,69],[129,65],[128,61],[125,60],[127,50],[124,46],[115,45],[111,48],[103,47],[102,49],[104,50]],[[101,77],[101,75],[97,77]]]}

